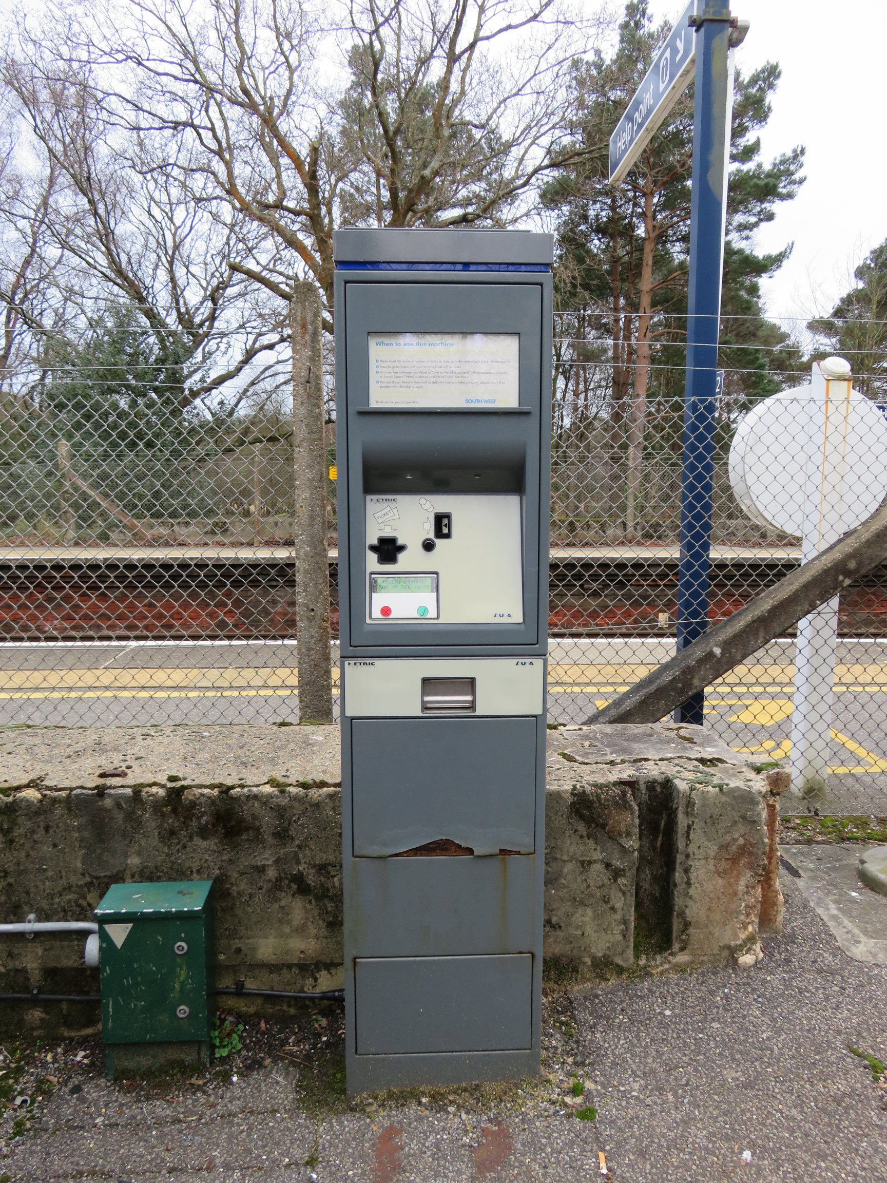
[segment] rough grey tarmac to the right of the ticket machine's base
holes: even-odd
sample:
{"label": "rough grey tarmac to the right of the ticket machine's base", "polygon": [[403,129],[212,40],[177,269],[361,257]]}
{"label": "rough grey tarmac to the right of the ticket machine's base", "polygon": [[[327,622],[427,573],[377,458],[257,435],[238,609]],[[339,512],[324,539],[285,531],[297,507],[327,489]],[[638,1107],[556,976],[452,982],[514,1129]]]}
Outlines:
{"label": "rough grey tarmac to the right of the ticket machine's base", "polygon": [[887,1179],[883,1078],[849,1051],[887,1061],[887,970],[842,953],[788,877],[783,890],[784,935],[755,969],[575,994],[620,1178]]}

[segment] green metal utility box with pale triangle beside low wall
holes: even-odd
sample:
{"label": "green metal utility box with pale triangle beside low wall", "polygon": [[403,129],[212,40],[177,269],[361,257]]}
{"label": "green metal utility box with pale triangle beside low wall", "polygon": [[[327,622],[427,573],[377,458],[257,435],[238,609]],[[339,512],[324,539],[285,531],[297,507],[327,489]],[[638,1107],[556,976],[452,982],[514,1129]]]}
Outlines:
{"label": "green metal utility box with pale triangle beside low wall", "polygon": [[149,1065],[162,1062],[156,1045],[166,1043],[202,1045],[194,1051],[208,1058],[212,890],[212,879],[114,884],[96,909],[109,1077],[121,1045],[155,1045]]}

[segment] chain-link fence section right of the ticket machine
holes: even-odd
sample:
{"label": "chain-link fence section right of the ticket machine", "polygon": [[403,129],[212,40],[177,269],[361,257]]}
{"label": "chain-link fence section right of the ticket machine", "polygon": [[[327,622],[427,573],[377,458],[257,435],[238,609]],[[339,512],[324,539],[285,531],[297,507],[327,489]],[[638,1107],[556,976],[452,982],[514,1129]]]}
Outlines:
{"label": "chain-link fence section right of the ticket machine", "polygon": [[[679,595],[682,350],[659,349],[658,361],[643,371],[636,364],[620,367],[604,354],[611,340],[608,318],[590,330],[584,319],[559,317],[555,353],[549,691],[552,718],[565,723],[587,718],[674,653]],[[731,334],[736,325],[730,322],[724,328],[727,337],[740,335]],[[818,425],[811,432],[805,394],[791,394],[810,383],[809,364],[762,375],[743,366],[737,347],[731,361],[713,425],[710,622],[729,616],[801,562],[809,442],[822,431]],[[740,504],[731,445],[768,395],[779,413],[745,441]],[[855,459],[831,458],[843,480],[835,500],[849,491],[854,504],[849,516],[843,504],[843,523],[834,505],[826,506],[823,544],[856,524],[854,505],[865,503],[865,517],[887,492],[883,409],[867,401],[863,419],[848,437]],[[768,494],[770,519],[749,486],[758,500],[762,490]],[[830,716],[823,743],[831,812],[887,814],[886,578],[887,571],[876,570],[833,606],[831,678],[822,661],[804,667],[808,711],[818,711],[820,720]],[[818,616],[828,618],[828,606]],[[822,620],[817,627],[822,632]],[[776,638],[706,692],[706,726],[755,762],[788,763],[791,756],[795,634]],[[812,800],[810,808],[821,803]]]}

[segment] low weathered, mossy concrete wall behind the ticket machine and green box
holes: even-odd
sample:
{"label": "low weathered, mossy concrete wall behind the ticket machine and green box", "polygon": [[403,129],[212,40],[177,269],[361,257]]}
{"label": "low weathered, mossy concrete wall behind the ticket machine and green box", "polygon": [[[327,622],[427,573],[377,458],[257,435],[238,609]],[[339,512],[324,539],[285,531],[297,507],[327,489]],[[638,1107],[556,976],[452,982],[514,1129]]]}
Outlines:
{"label": "low weathered, mossy concrete wall behind the ticket machine and green box", "polygon": [[[212,878],[218,984],[341,984],[337,729],[0,729],[0,920]],[[770,790],[701,728],[558,729],[548,762],[546,957],[724,961],[757,942],[762,903],[779,923]],[[82,951],[0,938],[0,991],[91,993]]]}

